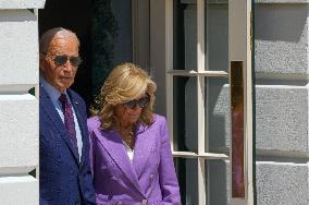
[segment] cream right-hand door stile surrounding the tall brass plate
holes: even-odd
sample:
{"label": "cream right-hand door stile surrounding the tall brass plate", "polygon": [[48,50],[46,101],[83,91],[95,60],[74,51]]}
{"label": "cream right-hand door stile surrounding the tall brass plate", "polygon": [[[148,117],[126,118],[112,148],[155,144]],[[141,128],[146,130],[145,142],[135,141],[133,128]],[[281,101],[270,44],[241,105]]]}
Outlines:
{"label": "cream right-hand door stile surrounding the tall brass plate", "polygon": [[[228,67],[231,61],[244,62],[244,180],[245,198],[231,197],[231,205],[252,205],[252,87],[250,44],[251,0],[230,1],[228,4]],[[232,114],[231,114],[232,117]],[[232,129],[232,126],[231,126]],[[232,133],[232,131],[231,131]],[[232,137],[232,136],[231,136]],[[231,140],[232,141],[232,140]],[[232,148],[230,150],[232,156]],[[232,161],[232,159],[231,159]],[[232,174],[232,164],[230,167]],[[232,176],[230,178],[232,190]]]}

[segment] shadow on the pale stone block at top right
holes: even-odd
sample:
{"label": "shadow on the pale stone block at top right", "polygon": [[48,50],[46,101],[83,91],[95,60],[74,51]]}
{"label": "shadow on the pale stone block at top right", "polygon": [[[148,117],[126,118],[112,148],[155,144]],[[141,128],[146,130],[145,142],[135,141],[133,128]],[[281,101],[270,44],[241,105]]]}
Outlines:
{"label": "shadow on the pale stone block at top right", "polygon": [[256,39],[298,43],[305,31],[308,7],[304,4],[256,4]]}

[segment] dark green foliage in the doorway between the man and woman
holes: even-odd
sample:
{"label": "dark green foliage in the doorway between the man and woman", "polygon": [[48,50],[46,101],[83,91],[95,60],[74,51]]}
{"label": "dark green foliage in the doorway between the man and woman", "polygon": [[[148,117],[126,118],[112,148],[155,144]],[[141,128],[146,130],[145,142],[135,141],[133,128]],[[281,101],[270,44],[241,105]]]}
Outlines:
{"label": "dark green foliage in the doorway between the man and woman", "polygon": [[96,96],[113,67],[113,43],[119,27],[112,13],[111,0],[94,1],[91,29],[92,94]]}

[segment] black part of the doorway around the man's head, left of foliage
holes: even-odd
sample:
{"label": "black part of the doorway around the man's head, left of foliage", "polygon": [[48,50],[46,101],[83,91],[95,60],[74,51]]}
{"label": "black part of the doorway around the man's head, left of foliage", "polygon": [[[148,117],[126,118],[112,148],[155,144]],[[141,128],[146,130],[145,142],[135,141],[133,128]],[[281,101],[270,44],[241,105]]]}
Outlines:
{"label": "black part of the doorway around the man's head, left of foliage", "polygon": [[52,27],[64,27],[76,33],[81,40],[83,63],[76,73],[72,88],[92,102],[91,92],[91,0],[47,0],[45,9],[39,10],[39,35]]}

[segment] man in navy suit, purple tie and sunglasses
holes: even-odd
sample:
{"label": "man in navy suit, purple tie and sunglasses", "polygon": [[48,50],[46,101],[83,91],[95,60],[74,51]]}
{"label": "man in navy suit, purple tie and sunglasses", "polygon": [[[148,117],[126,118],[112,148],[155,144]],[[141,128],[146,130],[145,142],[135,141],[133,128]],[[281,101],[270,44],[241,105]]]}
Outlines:
{"label": "man in navy suit, purple tie and sunglasses", "polygon": [[95,204],[86,106],[70,89],[82,60],[79,40],[65,28],[40,38],[39,202]]}

